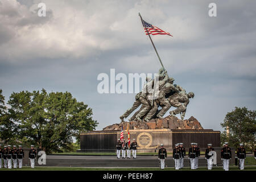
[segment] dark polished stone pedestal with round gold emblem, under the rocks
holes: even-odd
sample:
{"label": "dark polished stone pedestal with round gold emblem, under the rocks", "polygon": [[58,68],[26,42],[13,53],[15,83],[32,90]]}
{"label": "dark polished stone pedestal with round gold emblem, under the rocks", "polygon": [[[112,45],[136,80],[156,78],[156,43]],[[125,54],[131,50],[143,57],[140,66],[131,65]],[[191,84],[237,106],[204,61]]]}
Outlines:
{"label": "dark polished stone pedestal with round gold emblem, under the rocks", "polygon": [[[121,131],[90,131],[81,133],[81,152],[115,152]],[[127,141],[127,133],[123,132]],[[213,130],[170,130],[170,129],[139,129],[130,130],[131,142],[135,139],[138,143],[138,152],[154,152],[161,143],[168,151],[174,148],[176,143],[183,142],[188,150],[190,143],[197,142],[201,150],[207,148],[208,143],[213,147],[220,147],[220,131]]]}

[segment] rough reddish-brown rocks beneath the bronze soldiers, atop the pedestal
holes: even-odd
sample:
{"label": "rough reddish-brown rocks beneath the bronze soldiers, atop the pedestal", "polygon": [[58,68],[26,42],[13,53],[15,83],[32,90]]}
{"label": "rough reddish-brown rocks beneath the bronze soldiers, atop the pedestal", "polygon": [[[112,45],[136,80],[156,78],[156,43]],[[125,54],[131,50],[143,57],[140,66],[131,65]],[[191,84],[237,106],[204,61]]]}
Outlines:
{"label": "rough reddish-brown rocks beneath the bronze soldiers, atop the pedestal", "polygon": [[180,120],[177,117],[168,115],[164,119],[151,119],[148,122],[121,122],[114,125],[107,126],[103,131],[119,131],[126,130],[127,123],[129,123],[129,130],[155,130],[155,129],[170,129],[170,130],[203,130],[200,122],[193,116],[189,119]]}

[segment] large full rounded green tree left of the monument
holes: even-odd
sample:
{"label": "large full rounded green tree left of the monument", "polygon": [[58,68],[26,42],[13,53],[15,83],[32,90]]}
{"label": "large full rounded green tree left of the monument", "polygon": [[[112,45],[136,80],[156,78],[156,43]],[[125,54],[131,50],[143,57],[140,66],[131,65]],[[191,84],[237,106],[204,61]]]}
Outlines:
{"label": "large full rounded green tree left of the monument", "polygon": [[23,91],[11,94],[8,104],[20,138],[47,153],[71,149],[73,139],[98,125],[92,109],[69,92]]}

